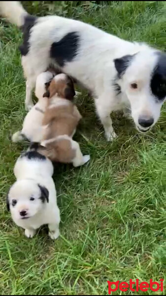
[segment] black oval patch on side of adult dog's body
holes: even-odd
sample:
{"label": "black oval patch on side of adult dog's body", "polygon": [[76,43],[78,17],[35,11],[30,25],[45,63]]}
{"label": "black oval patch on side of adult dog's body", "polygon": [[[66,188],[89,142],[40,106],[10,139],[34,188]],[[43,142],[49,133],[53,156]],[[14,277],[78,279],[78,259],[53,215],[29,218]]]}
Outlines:
{"label": "black oval patch on side of adult dog's body", "polygon": [[50,57],[54,58],[59,66],[63,67],[77,55],[79,35],[77,32],[66,34],[60,41],[51,45]]}

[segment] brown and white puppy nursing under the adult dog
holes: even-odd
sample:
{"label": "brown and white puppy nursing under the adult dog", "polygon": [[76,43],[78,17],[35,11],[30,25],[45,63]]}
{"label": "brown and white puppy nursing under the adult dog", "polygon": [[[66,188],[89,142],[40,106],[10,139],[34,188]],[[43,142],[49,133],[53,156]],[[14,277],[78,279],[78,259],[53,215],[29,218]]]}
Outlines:
{"label": "brown and white puppy nursing under the adult dog", "polygon": [[75,96],[72,80],[66,74],[56,75],[46,83],[48,106],[43,118],[43,138],[39,152],[52,161],[72,163],[77,167],[89,161],[79,144],[72,140],[81,114],[72,100]]}

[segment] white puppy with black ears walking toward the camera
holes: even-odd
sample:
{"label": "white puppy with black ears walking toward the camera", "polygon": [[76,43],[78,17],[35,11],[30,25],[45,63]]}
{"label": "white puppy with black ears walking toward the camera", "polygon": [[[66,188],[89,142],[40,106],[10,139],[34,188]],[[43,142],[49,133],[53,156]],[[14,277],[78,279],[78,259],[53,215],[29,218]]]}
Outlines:
{"label": "white puppy with black ears walking toward the camera", "polygon": [[33,237],[37,228],[48,224],[49,236],[58,238],[60,211],[51,161],[37,151],[27,151],[16,161],[14,175],[17,181],[7,195],[7,209],[13,221]]}

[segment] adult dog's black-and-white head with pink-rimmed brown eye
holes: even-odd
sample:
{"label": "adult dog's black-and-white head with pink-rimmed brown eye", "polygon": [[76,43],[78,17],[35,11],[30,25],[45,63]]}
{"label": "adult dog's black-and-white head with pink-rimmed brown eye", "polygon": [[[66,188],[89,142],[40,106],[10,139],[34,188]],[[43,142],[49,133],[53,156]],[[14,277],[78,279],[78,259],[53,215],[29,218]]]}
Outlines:
{"label": "adult dog's black-and-white head with pink-rimmed brown eye", "polygon": [[137,130],[148,131],[166,99],[166,54],[153,49],[115,59],[118,84],[128,98]]}

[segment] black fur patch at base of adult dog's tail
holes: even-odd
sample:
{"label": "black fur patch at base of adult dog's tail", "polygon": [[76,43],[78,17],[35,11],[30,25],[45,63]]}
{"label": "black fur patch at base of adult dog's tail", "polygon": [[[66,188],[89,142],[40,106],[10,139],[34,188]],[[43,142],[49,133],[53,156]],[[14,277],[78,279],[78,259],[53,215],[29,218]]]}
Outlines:
{"label": "black fur patch at base of adult dog's tail", "polygon": [[19,46],[19,49],[21,51],[22,55],[27,55],[29,52],[29,38],[30,38],[30,30],[34,26],[35,22],[37,20],[37,17],[33,15],[26,15],[24,17],[24,25],[21,27],[21,30],[23,31],[23,44]]}

